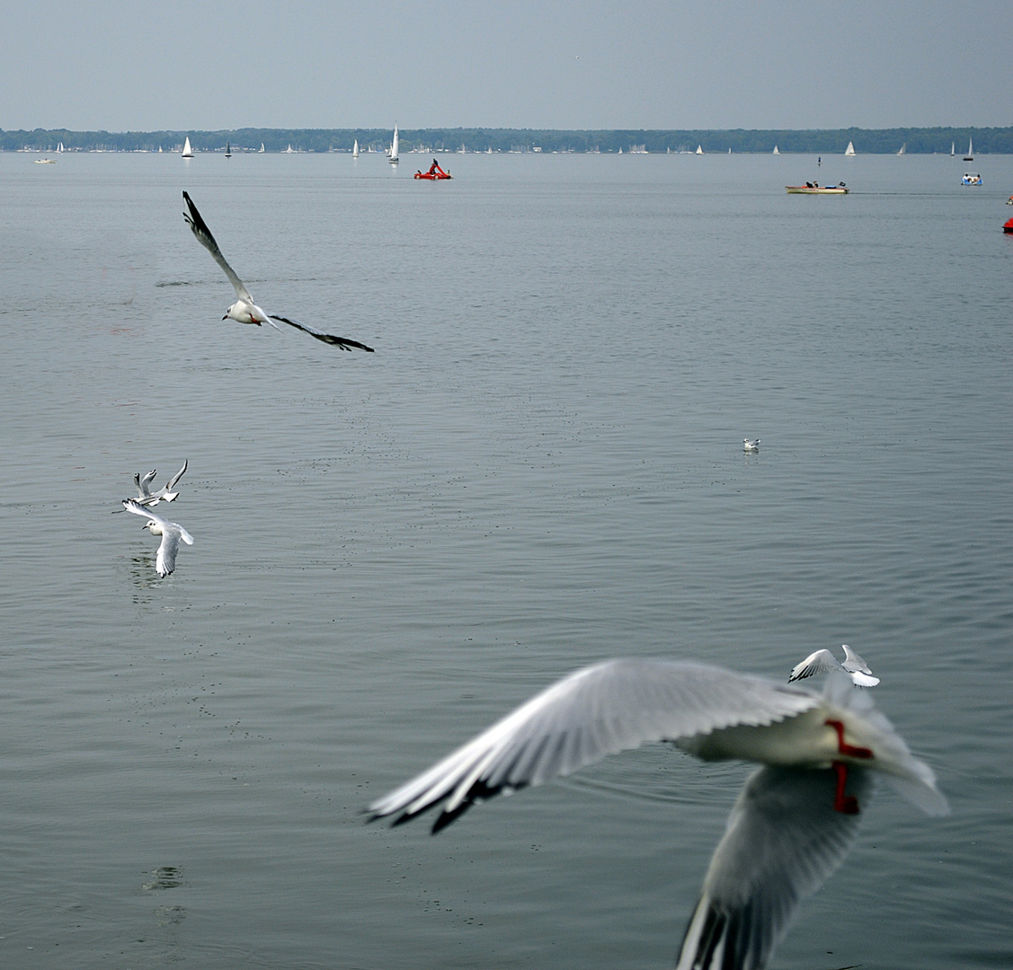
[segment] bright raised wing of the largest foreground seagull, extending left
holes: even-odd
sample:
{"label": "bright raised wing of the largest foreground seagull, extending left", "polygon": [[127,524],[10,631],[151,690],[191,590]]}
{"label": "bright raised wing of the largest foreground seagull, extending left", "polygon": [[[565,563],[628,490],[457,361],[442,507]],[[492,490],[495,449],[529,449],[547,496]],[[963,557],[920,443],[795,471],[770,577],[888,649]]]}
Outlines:
{"label": "bright raised wing of the largest foreground seagull, extending left", "polygon": [[397,824],[446,801],[433,826],[438,831],[475,802],[645,741],[772,724],[821,703],[805,689],[703,664],[609,660],[543,691],[367,811],[371,819],[398,814]]}

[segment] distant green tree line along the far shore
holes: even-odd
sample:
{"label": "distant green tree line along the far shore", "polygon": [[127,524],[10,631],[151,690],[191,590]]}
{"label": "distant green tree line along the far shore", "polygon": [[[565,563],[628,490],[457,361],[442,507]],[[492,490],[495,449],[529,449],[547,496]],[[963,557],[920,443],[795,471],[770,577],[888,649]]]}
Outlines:
{"label": "distant green tree line along the far shore", "polygon": [[[392,129],[278,129],[241,128],[219,132],[71,132],[67,129],[35,129],[31,132],[0,130],[0,151],[52,152],[63,142],[67,151],[165,152],[179,151],[189,138],[197,152],[224,151],[228,143],[234,152],[350,152],[355,142],[361,151],[383,151],[389,147]],[[506,128],[426,128],[399,131],[401,152],[426,149],[434,152],[613,152],[631,150],[656,152],[780,152],[807,154],[843,153],[852,142],[859,154],[890,154],[902,146],[912,155],[949,154],[955,144],[958,153],[975,140],[975,152],[992,155],[1013,154],[1013,128],[890,128],[771,130],[732,129],[729,131],[609,130],[557,131]]]}

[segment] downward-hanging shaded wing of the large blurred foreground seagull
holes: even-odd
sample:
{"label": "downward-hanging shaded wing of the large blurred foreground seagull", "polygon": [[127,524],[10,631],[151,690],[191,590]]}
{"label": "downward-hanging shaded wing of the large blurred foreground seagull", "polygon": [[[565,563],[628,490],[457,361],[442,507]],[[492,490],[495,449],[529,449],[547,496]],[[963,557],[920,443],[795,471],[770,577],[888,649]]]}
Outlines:
{"label": "downward-hanging shaded wing of the large blurred foreground seagull", "polygon": [[[859,815],[834,810],[832,769],[764,766],[728,817],[686,928],[676,970],[760,970],[799,903],[841,865]],[[848,791],[866,804],[872,774],[852,766]]]}

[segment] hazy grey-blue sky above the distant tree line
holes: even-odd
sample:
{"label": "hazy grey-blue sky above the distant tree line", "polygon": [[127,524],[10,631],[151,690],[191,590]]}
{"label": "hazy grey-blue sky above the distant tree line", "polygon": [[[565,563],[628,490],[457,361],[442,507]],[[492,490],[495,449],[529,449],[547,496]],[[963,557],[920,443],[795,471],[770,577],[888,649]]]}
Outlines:
{"label": "hazy grey-blue sky above the distant tree line", "polygon": [[1013,125],[1013,2],[3,0],[0,129]]}

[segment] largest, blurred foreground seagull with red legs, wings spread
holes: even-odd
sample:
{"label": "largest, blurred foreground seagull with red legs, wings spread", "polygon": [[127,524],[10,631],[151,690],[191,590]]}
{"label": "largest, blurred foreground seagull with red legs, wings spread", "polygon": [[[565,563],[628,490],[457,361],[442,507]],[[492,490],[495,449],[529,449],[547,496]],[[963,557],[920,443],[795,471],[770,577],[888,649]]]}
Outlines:
{"label": "largest, blurred foreground seagull with red legs, wings spread", "polygon": [[763,765],[731,810],[677,970],[762,970],[801,900],[844,861],[876,774],[927,814],[949,811],[932,770],[844,677],[817,694],[637,658],[571,673],[366,811],[397,825],[442,805],[437,832],[500,792],[661,740],[705,760]]}

